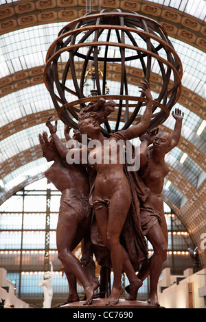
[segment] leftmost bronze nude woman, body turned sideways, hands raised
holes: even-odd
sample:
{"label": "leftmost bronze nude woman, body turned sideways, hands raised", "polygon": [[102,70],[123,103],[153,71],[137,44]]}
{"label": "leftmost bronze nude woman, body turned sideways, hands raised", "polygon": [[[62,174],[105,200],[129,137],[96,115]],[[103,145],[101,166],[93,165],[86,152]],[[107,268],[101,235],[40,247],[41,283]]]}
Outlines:
{"label": "leftmost bronze nude woman, body turned sideways, hands raised", "polygon": [[[51,132],[56,133],[56,125],[47,121]],[[66,135],[68,135],[66,133]],[[56,245],[58,258],[63,264],[69,282],[69,297],[67,303],[79,301],[76,291],[76,277],[84,287],[87,304],[91,304],[93,293],[98,288],[98,282],[89,279],[82,268],[82,264],[73,255],[73,249],[87,236],[90,230],[91,213],[89,211],[89,179],[86,169],[81,164],[68,164],[62,158],[52,137],[47,132],[39,134],[43,156],[47,161],[54,161],[45,171],[45,177],[62,193],[60,199],[60,212],[56,229]],[[62,144],[62,149],[65,146]]]}

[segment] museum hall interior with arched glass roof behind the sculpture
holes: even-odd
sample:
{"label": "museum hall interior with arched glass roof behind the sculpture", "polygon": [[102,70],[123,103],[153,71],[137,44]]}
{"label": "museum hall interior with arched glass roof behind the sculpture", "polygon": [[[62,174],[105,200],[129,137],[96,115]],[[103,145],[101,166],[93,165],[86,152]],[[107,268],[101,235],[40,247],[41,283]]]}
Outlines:
{"label": "museum hall interior with arched glass roof behind the sculpture", "polygon": [[[67,299],[69,286],[56,249],[61,193],[45,177],[52,162],[43,158],[38,140],[38,134],[48,130],[45,123],[52,115],[58,120],[57,134],[65,142],[64,123],[45,86],[46,56],[69,22],[89,12],[117,8],[157,21],[183,66],[181,93],[174,105],[184,113],[181,138],[165,156],[170,170],[162,191],[168,252],[158,292],[165,308],[206,308],[205,0],[0,0],[0,299],[5,300],[5,307],[42,308],[40,282],[51,267],[51,308]],[[58,73],[64,77],[66,62],[64,56],[60,59]],[[78,78],[82,59],[75,63]],[[133,62],[128,62],[127,68],[129,92],[135,96],[144,72]],[[154,97],[161,88],[156,68],[154,63],[150,73]],[[118,88],[119,73],[121,64],[113,60],[106,76],[106,93]],[[88,96],[89,79],[85,88]],[[112,127],[113,119],[110,124]],[[172,133],[171,114],[159,129]],[[138,140],[134,144],[138,145]],[[147,243],[150,255],[153,249]],[[80,260],[81,245],[73,254]],[[100,266],[95,264],[95,275],[100,279]],[[112,283],[113,272],[108,289]],[[126,285],[127,277],[122,274],[122,288]],[[147,277],[139,288],[139,301],[148,298],[149,285]],[[79,281],[77,289],[83,299]],[[125,290],[122,296],[127,296]]]}

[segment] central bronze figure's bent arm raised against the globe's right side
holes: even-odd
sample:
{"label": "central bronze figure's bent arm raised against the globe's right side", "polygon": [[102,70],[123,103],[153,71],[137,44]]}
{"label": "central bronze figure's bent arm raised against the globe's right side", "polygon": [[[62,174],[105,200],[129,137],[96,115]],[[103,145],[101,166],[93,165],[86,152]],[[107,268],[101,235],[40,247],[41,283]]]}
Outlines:
{"label": "central bronze figure's bent arm raised against the globe's right side", "polygon": [[150,84],[146,79],[144,80],[144,82],[141,82],[141,84],[143,84],[143,86],[139,86],[139,88],[141,88],[141,90],[139,91],[143,92],[148,99],[146,110],[143,116],[141,116],[141,121],[137,125],[133,125],[128,129],[122,131],[124,132],[124,135],[126,136],[126,138],[128,138],[128,140],[130,140],[131,138],[137,138],[137,136],[139,136],[141,132],[144,132],[150,125],[150,120],[152,117],[152,95],[150,92]]}

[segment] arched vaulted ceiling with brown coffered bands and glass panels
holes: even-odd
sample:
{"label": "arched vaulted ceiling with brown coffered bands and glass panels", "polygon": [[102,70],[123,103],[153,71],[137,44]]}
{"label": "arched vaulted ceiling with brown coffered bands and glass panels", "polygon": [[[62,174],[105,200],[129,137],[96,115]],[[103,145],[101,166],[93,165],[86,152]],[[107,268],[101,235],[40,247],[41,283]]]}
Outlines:
{"label": "arched vaulted ceiling with brown coffered bands and glass panels", "polygon": [[[175,107],[185,113],[185,118],[180,143],[166,157],[170,173],[165,179],[163,197],[182,217],[191,234],[197,233],[197,229],[190,215],[195,212],[196,216],[203,216],[204,224],[198,234],[205,232],[206,132],[204,129],[201,135],[196,133],[206,119],[204,0],[0,0],[0,204],[26,184],[40,179],[49,166],[38,144],[38,133],[46,129],[47,117],[52,114],[58,119],[43,84],[49,45],[69,21],[99,8],[132,10],[158,21],[181,58],[183,88]],[[62,71],[64,66],[62,62]],[[77,74],[81,68],[81,62],[77,62]],[[141,70],[129,66],[128,75],[131,86],[144,77]],[[111,84],[118,82],[118,64],[111,66],[108,79]],[[152,73],[154,95],[160,82],[159,75]],[[172,132],[173,128],[174,119],[170,116],[161,129]],[[58,134],[63,138],[61,121]],[[183,153],[187,153],[187,158],[181,164]],[[197,236],[194,235],[196,243]]]}

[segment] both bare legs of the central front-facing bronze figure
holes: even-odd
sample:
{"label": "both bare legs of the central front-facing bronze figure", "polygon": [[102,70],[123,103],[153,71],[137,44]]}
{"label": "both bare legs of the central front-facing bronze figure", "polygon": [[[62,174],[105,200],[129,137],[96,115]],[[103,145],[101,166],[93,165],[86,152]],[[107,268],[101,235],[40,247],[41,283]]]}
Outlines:
{"label": "both bare legs of the central front-facing bronze figure", "polygon": [[[126,201],[128,204],[126,204]],[[142,285],[132,264],[128,258],[124,247],[119,242],[119,236],[122,232],[128,208],[130,207],[130,197],[120,198],[114,195],[111,199],[109,208],[102,208],[95,211],[98,228],[102,236],[104,245],[111,251],[111,261],[114,272],[113,289],[108,298],[107,305],[115,305],[119,301],[122,294],[121,277],[124,270],[130,280],[131,293],[130,299],[137,298],[137,290]]]}

